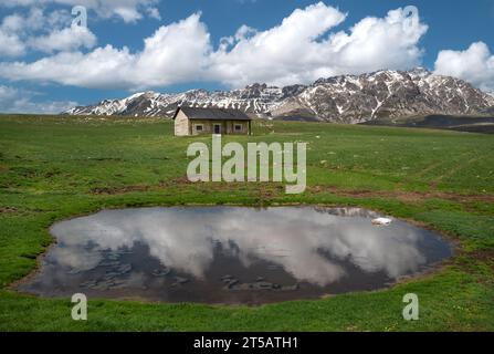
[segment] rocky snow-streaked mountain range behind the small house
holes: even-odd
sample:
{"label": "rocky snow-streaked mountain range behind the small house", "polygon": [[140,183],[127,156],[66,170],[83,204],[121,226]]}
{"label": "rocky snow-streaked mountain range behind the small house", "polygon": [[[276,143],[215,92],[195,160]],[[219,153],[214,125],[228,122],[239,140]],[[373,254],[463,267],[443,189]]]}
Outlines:
{"label": "rocky snow-streaked mountain range behind the small house", "polygon": [[253,84],[242,90],[192,90],[179,94],[144,92],[64,113],[170,117],[180,105],[237,108],[260,117],[361,123],[417,114],[480,114],[493,110],[494,96],[462,80],[419,67],[340,75],[317,80],[312,85]]}

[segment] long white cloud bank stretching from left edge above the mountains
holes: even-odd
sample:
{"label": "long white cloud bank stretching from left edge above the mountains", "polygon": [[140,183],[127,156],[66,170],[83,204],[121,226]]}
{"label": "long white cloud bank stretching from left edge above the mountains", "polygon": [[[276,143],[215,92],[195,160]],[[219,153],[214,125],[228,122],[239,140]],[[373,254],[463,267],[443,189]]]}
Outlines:
{"label": "long white cloud bank stretching from left edge above the mountains", "polygon": [[[144,88],[195,81],[231,86],[253,82],[308,83],[324,76],[420,63],[418,46],[427,25],[402,9],[365,18],[348,32],[330,32],[346,14],[319,2],[295,10],[272,29],[241,27],[213,50],[200,13],[164,25],[132,53],[112,45],[88,53],[59,53],[33,63],[0,63],[0,77],[83,87]],[[418,19],[417,19],[418,20]]]}

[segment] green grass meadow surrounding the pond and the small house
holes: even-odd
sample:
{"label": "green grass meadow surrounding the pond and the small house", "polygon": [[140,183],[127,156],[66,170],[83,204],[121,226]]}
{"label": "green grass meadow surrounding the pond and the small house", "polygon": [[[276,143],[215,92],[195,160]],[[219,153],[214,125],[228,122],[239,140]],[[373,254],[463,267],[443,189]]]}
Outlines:
{"label": "green grass meadow surrounding the pond and the small house", "polygon": [[[159,119],[0,116],[1,331],[494,331],[494,136],[378,126],[263,122],[252,137],[307,142],[307,190],[280,184],[190,184],[190,142]],[[103,208],[155,205],[361,206],[456,241],[440,269],[392,289],[260,308],[70,299],[9,285],[36,267],[55,220]],[[403,294],[420,320],[401,316]]]}

